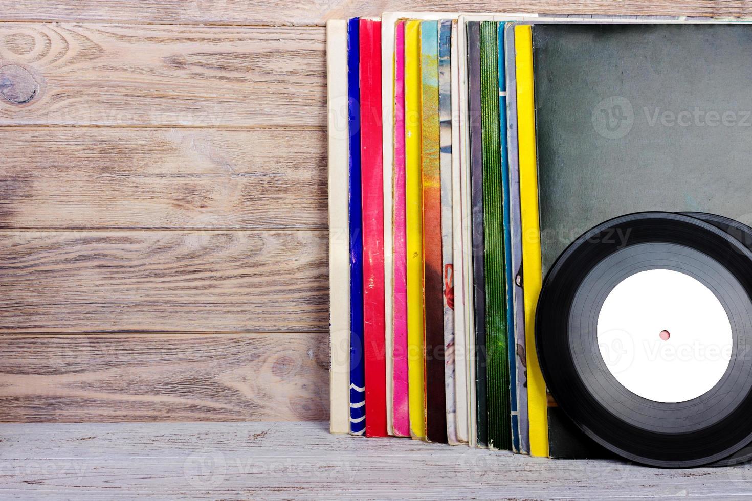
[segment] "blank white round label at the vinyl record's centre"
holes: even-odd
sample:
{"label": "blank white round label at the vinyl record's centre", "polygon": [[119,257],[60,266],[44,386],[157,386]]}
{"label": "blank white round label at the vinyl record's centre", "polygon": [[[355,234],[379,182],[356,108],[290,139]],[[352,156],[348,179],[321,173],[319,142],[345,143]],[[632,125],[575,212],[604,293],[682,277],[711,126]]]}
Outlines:
{"label": "blank white round label at the vinyl record's centre", "polygon": [[647,270],[620,282],[598,316],[608,370],[632,393],[664,403],[705,394],[732,354],[729,317],[702,282],[674,270]]}

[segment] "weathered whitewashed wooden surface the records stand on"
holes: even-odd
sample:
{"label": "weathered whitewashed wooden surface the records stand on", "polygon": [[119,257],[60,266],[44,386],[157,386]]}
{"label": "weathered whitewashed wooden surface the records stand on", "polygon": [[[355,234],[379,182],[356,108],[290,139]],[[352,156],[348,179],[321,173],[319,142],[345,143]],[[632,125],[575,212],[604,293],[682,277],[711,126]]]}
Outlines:
{"label": "weathered whitewashed wooden surface the records stand on", "polygon": [[752,466],[545,460],[323,423],[0,424],[0,499],[752,496]]}

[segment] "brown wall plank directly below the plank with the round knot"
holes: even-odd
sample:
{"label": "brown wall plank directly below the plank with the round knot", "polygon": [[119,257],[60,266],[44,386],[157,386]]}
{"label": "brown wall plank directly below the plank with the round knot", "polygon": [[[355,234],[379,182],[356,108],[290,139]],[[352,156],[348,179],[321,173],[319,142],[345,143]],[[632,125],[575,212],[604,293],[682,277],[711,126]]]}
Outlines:
{"label": "brown wall plank directly below the plank with the round knot", "polygon": [[326,133],[5,128],[0,228],[326,229]]}

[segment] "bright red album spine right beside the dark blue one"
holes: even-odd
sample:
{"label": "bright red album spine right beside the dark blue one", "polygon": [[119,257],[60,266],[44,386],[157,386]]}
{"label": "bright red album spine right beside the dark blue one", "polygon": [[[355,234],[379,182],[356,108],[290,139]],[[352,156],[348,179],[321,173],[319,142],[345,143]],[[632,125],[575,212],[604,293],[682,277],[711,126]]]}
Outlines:
{"label": "bright red album spine right beside the dark blue one", "polygon": [[381,149],[381,126],[381,21],[360,20],[360,151],[366,436],[387,436],[387,363],[384,343],[384,162]]}

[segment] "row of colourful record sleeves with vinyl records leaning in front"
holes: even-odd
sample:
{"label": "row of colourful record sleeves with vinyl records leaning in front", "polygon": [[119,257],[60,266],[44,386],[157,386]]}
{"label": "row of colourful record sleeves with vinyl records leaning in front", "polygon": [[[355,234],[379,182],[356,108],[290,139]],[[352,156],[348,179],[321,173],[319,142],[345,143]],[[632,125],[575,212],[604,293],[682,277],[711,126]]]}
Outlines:
{"label": "row of colourful record sleeves with vinyl records leaning in front", "polygon": [[332,433],[752,457],[750,53],[744,20],[330,20]]}

